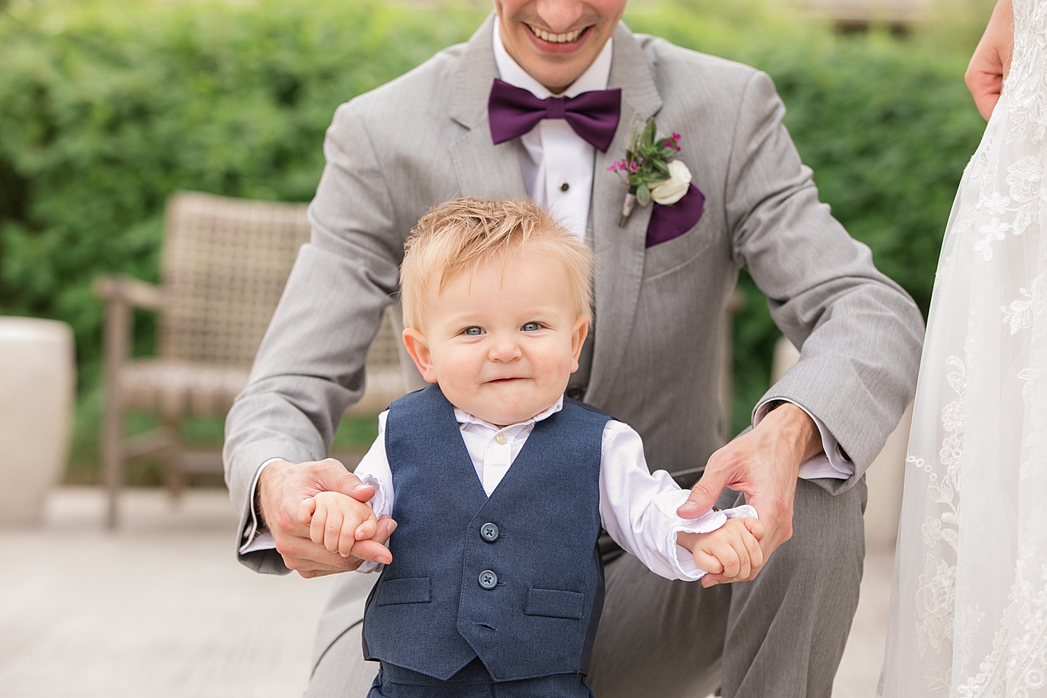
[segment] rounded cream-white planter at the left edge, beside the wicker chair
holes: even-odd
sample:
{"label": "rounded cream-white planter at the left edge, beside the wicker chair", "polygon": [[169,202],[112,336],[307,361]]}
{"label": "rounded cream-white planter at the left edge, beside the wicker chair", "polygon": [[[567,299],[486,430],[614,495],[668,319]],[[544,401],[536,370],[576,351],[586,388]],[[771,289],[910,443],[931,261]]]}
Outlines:
{"label": "rounded cream-white planter at the left edge, beside the wicker chair", "polygon": [[0,521],[34,521],[69,444],[75,369],[65,322],[0,317]]}

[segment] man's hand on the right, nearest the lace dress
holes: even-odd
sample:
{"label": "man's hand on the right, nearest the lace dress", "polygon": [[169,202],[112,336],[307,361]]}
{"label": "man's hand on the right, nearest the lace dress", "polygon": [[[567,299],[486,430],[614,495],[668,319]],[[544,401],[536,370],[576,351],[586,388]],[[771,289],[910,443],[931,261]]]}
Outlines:
{"label": "man's hand on the right, nearest the lace dress", "polygon": [[[684,519],[708,512],[726,487],[745,493],[745,503],[760,514],[763,561],[755,565],[747,581],[766,564],[779,545],[793,537],[793,499],[800,466],[822,450],[818,426],[792,403],[772,410],[748,434],[719,449],[706,464],[706,472],[691,488],[687,501],[676,510]],[[735,581],[723,575],[706,575],[701,586]]]}

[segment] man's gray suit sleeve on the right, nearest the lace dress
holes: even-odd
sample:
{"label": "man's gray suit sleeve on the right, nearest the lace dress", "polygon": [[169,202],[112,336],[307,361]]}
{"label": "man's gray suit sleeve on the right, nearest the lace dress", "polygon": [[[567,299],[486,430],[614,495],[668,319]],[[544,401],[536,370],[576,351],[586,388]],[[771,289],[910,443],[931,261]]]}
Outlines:
{"label": "man's gray suit sleeve on the right, nearest the lace dress", "polygon": [[739,103],[725,213],[735,263],[801,350],[760,403],[789,400],[825,424],[855,466],[846,480],[819,480],[841,492],[864,474],[912,400],[923,320],[819,201],[784,113],[771,78],[754,73]]}

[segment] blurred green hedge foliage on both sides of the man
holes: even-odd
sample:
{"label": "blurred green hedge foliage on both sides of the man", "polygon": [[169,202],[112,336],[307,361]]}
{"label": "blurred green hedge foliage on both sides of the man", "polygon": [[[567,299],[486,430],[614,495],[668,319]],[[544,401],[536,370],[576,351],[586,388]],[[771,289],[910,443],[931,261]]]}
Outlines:
{"label": "blurred green hedge foliage on both sides of the man", "polygon": [[[633,0],[625,19],[767,71],[822,199],[926,313],[956,185],[984,129],[962,74],[989,10],[988,0],[942,0],[922,26],[862,32],[757,0]],[[0,0],[0,314],[73,327],[74,473],[93,470],[99,405],[91,279],[157,280],[176,189],[308,201],[335,107],[465,41],[486,14],[483,3],[377,0]],[[739,288],[736,431],[767,388],[779,336],[744,273]],[[153,334],[153,318],[138,316],[136,354],[152,352]],[[220,423],[186,429],[191,441],[221,440]],[[351,424],[339,443],[372,434]]]}

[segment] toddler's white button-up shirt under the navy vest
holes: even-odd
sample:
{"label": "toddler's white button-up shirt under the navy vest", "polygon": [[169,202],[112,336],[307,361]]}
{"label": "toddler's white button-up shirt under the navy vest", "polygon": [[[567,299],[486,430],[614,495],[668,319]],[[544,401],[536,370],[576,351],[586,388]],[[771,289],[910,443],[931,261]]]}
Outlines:
{"label": "toddler's white button-up shirt under the navy vest", "polygon": [[[503,429],[454,409],[462,440],[487,496],[491,496],[512,468],[534,425],[562,408],[563,398],[560,398],[540,414]],[[378,416],[378,438],[355,471],[357,477],[375,488],[371,505],[378,516],[392,515],[396,498],[385,454],[387,415],[385,411]],[[682,519],[676,516],[676,509],[687,500],[687,495],[688,491],[681,490],[664,470],[648,472],[640,434],[621,422],[607,422],[600,457],[603,527],[616,543],[637,556],[654,573],[693,582],[706,572],[694,564],[690,553],[676,545],[676,534],[709,533],[722,526],[729,518],[755,517],[756,510],[747,504],[722,512],[710,511],[696,519]],[[541,497],[540,491],[535,492],[535,497]],[[378,563],[365,562],[357,571],[376,571],[381,567]]]}

